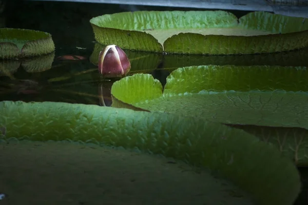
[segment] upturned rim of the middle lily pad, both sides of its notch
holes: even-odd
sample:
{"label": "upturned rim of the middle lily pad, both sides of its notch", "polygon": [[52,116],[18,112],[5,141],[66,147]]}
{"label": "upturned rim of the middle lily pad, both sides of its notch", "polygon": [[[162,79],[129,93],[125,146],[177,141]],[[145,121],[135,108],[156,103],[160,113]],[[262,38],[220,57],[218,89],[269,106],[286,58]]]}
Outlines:
{"label": "upturned rim of the middle lily pad, both sides of its notch", "polygon": [[[204,78],[205,73],[208,79]],[[307,75],[307,67],[294,66],[189,66],[172,71],[166,79],[164,88],[158,79],[154,79],[149,74],[134,74],[124,77],[114,82],[111,95],[113,103],[120,107],[127,106],[130,109],[150,111],[151,109],[139,106],[148,103],[152,99],[174,95],[198,94],[202,91],[308,92],[308,86],[305,84]],[[292,78],[288,78],[288,76],[292,76]],[[134,78],[138,80],[133,80]],[[191,83],[190,78],[194,79],[194,83]],[[268,81],[267,79],[271,80]],[[143,89],[136,91],[132,87],[124,86],[124,89],[121,88],[121,86],[129,83],[132,83],[133,87]]]}

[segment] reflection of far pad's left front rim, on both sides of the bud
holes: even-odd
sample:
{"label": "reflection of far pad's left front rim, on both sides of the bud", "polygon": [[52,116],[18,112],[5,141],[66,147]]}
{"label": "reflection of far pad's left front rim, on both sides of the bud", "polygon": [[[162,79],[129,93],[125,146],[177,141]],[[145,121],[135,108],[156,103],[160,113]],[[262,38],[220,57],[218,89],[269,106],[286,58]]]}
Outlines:
{"label": "reflection of far pad's left front rim, on both sides of the bud", "polygon": [[[100,52],[105,48],[104,45],[95,43],[92,54],[90,55],[90,62],[98,65]],[[130,60],[131,69],[129,74],[132,73],[147,73],[155,70],[163,60],[161,53],[149,53],[132,50],[124,50],[128,59]]]}

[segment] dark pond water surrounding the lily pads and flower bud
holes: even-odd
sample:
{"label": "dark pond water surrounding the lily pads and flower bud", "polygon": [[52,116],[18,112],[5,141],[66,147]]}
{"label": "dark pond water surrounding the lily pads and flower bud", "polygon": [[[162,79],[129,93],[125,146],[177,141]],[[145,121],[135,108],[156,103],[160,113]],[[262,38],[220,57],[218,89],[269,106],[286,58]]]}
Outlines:
{"label": "dark pond water surrounding the lily pads and flower bud", "polygon": [[[0,101],[54,101],[111,106],[111,86],[118,79],[104,79],[98,71],[98,53],[95,51],[101,50],[104,46],[94,42],[89,19],[106,13],[138,9],[138,7],[49,2],[21,2],[11,4],[9,7],[15,14],[23,15],[8,14],[7,27],[49,32],[53,36],[56,50],[55,53],[40,58],[0,61]],[[141,7],[140,9],[169,10],[170,8]],[[189,9],[177,8],[177,10]],[[235,11],[237,16],[245,13]],[[128,75],[150,73],[163,86],[166,84],[167,76],[173,70],[184,66],[308,66],[308,49],[232,56],[125,52],[132,65]],[[298,131],[297,128],[291,130],[290,132]],[[306,130],[301,132],[307,135]],[[304,189],[296,204],[303,204],[302,202],[306,201],[308,190],[308,172],[305,168],[300,168],[300,172]]]}

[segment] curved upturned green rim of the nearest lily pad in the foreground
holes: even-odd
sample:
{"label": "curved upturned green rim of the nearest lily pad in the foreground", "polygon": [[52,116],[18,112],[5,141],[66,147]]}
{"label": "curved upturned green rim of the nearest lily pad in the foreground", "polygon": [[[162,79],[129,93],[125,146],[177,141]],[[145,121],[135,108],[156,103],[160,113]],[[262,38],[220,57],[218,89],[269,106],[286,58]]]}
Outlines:
{"label": "curved upturned green rim of the nearest lily pad in the foreground", "polygon": [[296,167],[276,148],[218,123],[168,113],[51,102],[2,101],[0,112],[4,139],[80,140],[174,157],[233,181],[262,205],[290,205],[300,191]]}

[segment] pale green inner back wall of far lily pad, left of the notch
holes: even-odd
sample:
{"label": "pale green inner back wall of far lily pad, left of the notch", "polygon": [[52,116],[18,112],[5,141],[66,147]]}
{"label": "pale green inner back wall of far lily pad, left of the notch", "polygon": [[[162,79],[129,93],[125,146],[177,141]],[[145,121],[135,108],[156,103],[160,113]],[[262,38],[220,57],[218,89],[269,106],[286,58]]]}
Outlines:
{"label": "pale green inner back wall of far lily pad, left of the notch", "polygon": [[235,26],[237,17],[226,11],[136,11],[94,17],[90,23],[101,27],[137,31],[198,29]]}

